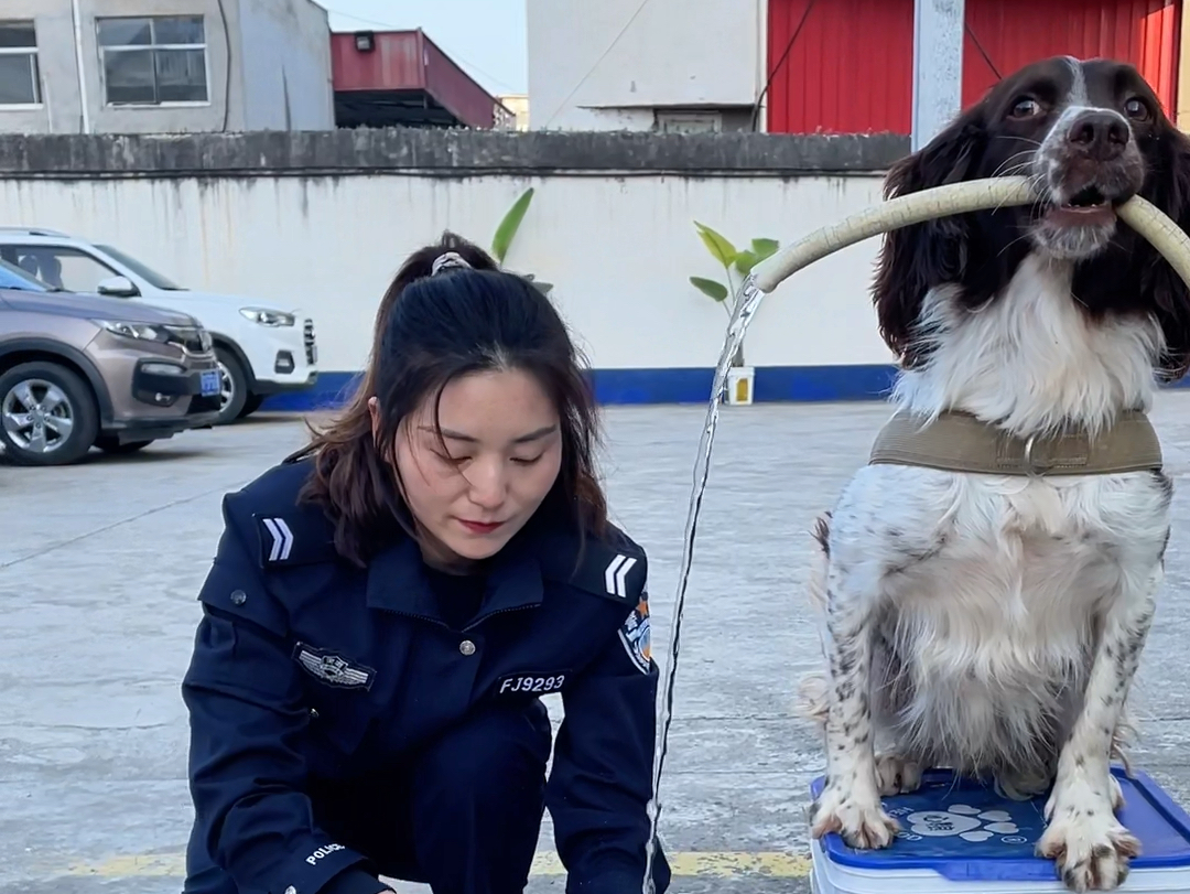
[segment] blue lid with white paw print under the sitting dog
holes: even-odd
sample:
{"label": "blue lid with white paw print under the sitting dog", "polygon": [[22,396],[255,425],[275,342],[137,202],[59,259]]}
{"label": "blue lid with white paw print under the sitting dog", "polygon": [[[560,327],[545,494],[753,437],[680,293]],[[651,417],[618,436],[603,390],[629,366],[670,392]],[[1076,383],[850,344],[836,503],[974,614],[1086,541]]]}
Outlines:
{"label": "blue lid with white paw print under the sitting dog", "polygon": [[[1128,779],[1120,768],[1111,771],[1123,790],[1120,821],[1141,843],[1132,871],[1190,867],[1190,815],[1144,773]],[[823,777],[814,780],[814,798],[823,784]],[[831,833],[822,849],[831,861],[854,869],[932,869],[953,881],[1052,881],[1053,861],[1034,854],[1045,832],[1047,798],[1008,801],[990,783],[934,770],[917,792],[883,799],[902,826],[890,846],[854,850]]]}

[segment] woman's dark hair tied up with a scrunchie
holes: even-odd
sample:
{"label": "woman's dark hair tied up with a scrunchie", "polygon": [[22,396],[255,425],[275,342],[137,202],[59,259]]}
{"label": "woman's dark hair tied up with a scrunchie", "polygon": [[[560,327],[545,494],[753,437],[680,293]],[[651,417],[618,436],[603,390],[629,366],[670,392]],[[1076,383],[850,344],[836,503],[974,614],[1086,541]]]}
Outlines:
{"label": "woman's dark hair tied up with a scrunchie", "polygon": [[[446,252],[470,269],[431,275]],[[581,532],[603,534],[607,502],[595,474],[599,414],[565,324],[528,280],[499,270],[482,249],[447,232],[401,265],[376,313],[371,356],[355,394],[334,421],[312,426],[311,443],[290,457],[314,457],[301,499],[321,505],[333,520],[340,555],[364,564],[390,540],[394,521],[414,533],[393,457],[406,418],[430,399],[437,424],[437,404],[452,380],[506,369],[536,376],[558,411],[562,469],[541,509],[560,513],[559,520]],[[375,436],[372,396],[381,419]]]}

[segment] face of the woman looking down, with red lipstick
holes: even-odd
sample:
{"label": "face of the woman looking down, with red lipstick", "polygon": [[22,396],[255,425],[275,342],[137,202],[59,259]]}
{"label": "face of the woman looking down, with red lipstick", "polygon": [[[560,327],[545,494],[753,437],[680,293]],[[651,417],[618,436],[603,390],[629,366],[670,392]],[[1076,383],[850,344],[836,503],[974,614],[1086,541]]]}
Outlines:
{"label": "face of the woman looking down, with red lipstick", "polygon": [[[372,400],[372,426],[377,424]],[[533,515],[558,476],[558,411],[530,374],[476,373],[453,380],[396,436],[396,468],[406,504],[430,561],[495,555]],[[443,451],[445,444],[445,452]]]}

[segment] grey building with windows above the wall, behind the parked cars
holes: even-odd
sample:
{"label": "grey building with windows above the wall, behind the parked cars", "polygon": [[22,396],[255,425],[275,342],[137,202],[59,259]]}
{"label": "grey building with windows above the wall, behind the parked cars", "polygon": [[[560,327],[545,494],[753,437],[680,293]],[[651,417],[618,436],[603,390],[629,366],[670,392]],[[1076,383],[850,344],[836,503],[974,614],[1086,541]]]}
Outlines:
{"label": "grey building with windows above the wall, behind the parked cars", "polygon": [[0,131],[334,127],[312,0],[4,0]]}

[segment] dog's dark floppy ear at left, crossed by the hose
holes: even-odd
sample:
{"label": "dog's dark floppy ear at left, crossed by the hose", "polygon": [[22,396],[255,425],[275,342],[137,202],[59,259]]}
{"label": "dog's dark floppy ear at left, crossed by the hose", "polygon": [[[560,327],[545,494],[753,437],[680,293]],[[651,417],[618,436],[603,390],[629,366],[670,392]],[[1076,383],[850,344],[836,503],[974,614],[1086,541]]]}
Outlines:
{"label": "dog's dark floppy ear at left, crossed by the hose", "polygon": [[[884,181],[884,198],[932,189],[969,179],[984,145],[983,108],[956,119],[927,145],[896,162]],[[958,279],[967,223],[962,217],[929,220],[887,233],[872,288],[885,344],[907,367],[919,361],[915,327],[926,293]]]}

